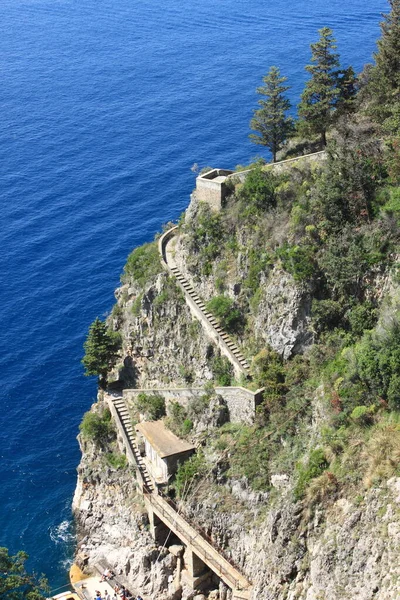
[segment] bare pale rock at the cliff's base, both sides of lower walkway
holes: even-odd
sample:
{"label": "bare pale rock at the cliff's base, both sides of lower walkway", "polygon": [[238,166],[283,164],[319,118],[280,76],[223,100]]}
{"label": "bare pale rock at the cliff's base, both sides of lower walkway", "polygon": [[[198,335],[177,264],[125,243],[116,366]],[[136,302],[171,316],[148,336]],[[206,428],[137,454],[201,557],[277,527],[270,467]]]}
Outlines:
{"label": "bare pale rock at the cliff's base, both sides of lower walkway", "polygon": [[[92,566],[106,559],[135,593],[173,598],[168,589],[176,576],[176,557],[173,549],[152,540],[134,474],[105,468],[90,444],[82,452],[74,498],[78,551]],[[270,494],[251,492],[243,480],[199,486],[182,508],[230,549],[254,584],[254,599],[397,597],[400,478],[356,501],[339,497],[311,512],[290,499],[286,474],[274,478]],[[182,597],[195,594],[184,589]]]}

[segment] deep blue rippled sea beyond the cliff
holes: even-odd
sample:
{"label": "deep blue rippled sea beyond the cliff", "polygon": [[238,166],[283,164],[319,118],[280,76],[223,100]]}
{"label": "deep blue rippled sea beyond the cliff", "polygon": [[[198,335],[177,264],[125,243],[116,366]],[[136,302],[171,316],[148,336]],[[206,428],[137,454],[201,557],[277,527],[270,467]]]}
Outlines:
{"label": "deep blue rippled sea beyond the cliff", "polygon": [[[371,61],[384,0],[1,0],[0,545],[53,590],[73,552],[80,364],[131,249],[177,219],[191,166],[263,154],[255,88],[298,102],[317,30]],[[267,156],[267,153],[264,152]]]}

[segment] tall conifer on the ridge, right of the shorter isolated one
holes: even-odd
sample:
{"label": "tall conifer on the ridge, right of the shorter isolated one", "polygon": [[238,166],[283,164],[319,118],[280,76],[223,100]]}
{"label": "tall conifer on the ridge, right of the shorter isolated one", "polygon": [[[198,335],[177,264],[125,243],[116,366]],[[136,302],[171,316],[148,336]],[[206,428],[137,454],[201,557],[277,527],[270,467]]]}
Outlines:
{"label": "tall conifer on the ridge, right of the shorter isolated one", "polygon": [[334,52],[336,40],[332,30],[324,27],[319,34],[318,42],[311,44],[313,64],[306,66],[311,78],[301,95],[298,113],[303,132],[320,135],[322,144],[326,146],[326,131],[340,96],[339,55]]}

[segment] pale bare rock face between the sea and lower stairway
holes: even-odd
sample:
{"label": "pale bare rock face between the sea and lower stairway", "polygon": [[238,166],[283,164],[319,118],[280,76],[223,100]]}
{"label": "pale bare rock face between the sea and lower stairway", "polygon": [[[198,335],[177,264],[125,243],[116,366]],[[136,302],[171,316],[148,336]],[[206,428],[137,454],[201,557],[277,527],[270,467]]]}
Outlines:
{"label": "pale bare rock face between the sea and lower stairway", "polygon": [[[100,393],[93,410],[103,408]],[[82,459],[73,499],[78,564],[93,571],[105,560],[132,593],[162,598],[176,558],[156,545],[150,535],[134,472],[108,464],[107,454],[115,447],[99,448],[82,438],[79,441]]]}

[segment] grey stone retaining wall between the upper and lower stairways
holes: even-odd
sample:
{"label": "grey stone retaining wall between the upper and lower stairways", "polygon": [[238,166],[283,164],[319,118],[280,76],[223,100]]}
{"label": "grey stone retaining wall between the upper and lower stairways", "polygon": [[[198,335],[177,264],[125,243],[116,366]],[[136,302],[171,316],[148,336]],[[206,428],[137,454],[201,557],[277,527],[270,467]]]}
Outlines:
{"label": "grey stone retaining wall between the upper and lower stairways", "polygon": [[[262,402],[263,389],[252,392],[242,387],[215,387],[215,393],[220,395],[226,402],[229,419],[231,423],[254,422],[257,406]],[[191,400],[202,396],[203,388],[156,388],[156,389],[128,389],[123,391],[123,397],[129,404],[134,402],[140,393],[160,394],[167,405],[178,402],[187,406]]]}

